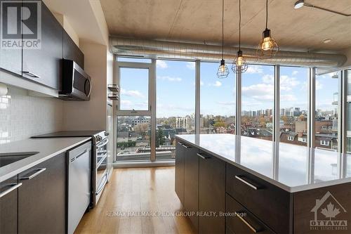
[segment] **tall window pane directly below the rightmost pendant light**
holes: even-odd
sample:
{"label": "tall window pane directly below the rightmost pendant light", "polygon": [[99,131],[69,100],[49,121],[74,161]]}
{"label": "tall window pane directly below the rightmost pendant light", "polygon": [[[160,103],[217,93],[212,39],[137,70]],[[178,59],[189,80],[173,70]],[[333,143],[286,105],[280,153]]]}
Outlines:
{"label": "tall window pane directly below the rightmost pendant light", "polygon": [[274,67],[250,65],[241,85],[241,135],[272,141]]}

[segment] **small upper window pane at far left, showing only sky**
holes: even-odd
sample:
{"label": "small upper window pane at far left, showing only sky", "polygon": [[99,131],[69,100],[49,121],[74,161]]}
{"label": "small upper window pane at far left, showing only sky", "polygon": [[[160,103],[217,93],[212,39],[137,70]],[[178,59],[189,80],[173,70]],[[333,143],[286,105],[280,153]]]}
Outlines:
{"label": "small upper window pane at far left, showing only sky", "polygon": [[149,70],[121,67],[119,110],[149,109]]}

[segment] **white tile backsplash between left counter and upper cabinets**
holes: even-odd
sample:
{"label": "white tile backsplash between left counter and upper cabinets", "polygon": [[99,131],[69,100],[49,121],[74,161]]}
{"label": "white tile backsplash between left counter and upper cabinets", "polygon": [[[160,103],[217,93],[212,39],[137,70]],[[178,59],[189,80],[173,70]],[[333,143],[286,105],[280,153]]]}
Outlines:
{"label": "white tile backsplash between left counter and upper cabinets", "polygon": [[28,91],[10,86],[0,96],[0,144],[62,129],[63,101],[28,96]]}

